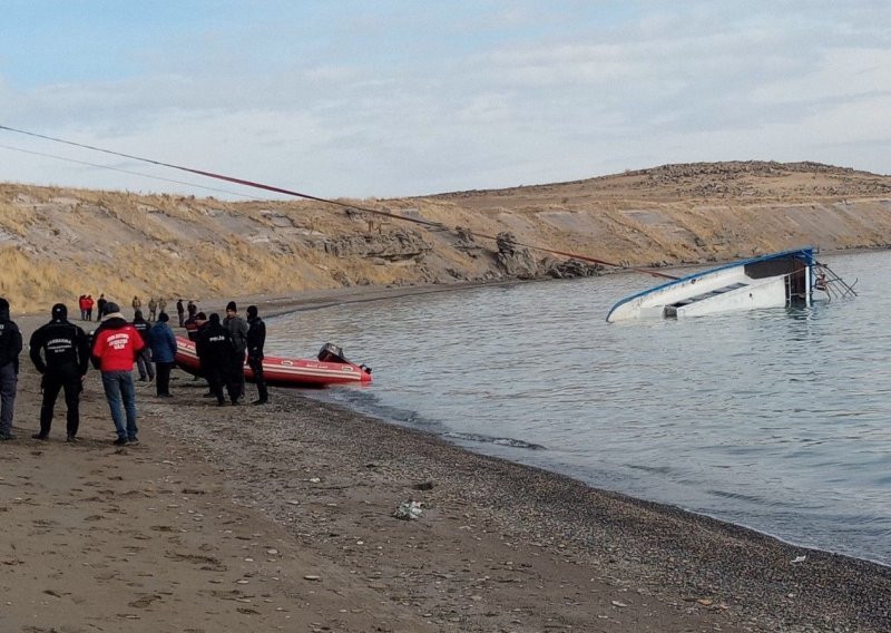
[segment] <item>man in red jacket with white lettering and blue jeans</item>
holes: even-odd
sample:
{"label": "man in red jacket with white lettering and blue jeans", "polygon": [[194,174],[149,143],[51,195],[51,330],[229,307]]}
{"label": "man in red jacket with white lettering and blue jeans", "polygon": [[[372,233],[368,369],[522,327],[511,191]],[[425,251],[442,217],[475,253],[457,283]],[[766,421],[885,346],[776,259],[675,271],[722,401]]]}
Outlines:
{"label": "man in red jacket with white lettering and blue jeans", "polygon": [[[127,323],[117,303],[106,303],[102,324],[94,333],[92,364],[102,372],[102,388],[111,409],[111,419],[118,439],[116,446],[139,444],[136,428],[136,387],[133,382],[133,363],[145,342],[136,329]],[[121,410],[121,405],[123,409]],[[124,425],[126,411],[127,425]]]}

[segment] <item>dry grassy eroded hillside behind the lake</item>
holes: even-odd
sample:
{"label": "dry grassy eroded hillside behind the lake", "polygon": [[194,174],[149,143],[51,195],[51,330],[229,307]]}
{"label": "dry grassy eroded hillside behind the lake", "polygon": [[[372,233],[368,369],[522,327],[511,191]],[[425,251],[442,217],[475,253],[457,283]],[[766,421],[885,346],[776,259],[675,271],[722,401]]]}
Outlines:
{"label": "dry grassy eroded hillside behind the lake", "polygon": [[0,294],[21,312],[100,292],[128,305],[134,295],[286,295],[611,270],[548,250],[663,266],[891,243],[891,178],[810,163],[668,165],[341,202],[353,206],[0,185]]}

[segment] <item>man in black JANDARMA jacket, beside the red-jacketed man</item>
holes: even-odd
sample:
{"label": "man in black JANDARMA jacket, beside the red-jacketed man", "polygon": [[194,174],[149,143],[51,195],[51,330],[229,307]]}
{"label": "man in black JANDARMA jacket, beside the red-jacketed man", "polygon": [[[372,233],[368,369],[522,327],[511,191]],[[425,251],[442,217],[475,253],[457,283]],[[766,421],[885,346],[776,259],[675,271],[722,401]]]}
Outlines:
{"label": "man in black JANDARMA jacket, beside the red-jacketed man", "polygon": [[[68,309],[62,303],[52,306],[52,320],[38,328],[29,342],[31,361],[37,371],[43,374],[43,402],[40,406],[40,432],[35,439],[47,439],[52,426],[56,398],[65,390],[65,406],[68,408],[68,441],[77,440],[80,426],[80,392],[84,376],[90,360],[90,344],[87,334],[68,321]],[[42,357],[41,357],[42,353]]]}

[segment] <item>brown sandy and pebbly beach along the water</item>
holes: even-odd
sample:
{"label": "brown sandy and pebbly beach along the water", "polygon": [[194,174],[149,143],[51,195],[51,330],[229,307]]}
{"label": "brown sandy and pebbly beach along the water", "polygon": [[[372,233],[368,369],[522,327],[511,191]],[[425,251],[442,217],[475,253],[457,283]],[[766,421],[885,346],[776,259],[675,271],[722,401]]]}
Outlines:
{"label": "brown sandy and pebbly beach along the water", "polygon": [[[239,305],[266,316],[441,290]],[[16,320],[27,339],[48,315]],[[141,442],[121,448],[90,370],[81,441],[65,441],[61,398],[33,440],[39,376],[21,366],[18,439],[0,444],[3,631],[891,631],[891,568],[285,389],[218,408],[178,370],[169,400],[138,382]],[[395,518],[408,500],[420,517]]]}

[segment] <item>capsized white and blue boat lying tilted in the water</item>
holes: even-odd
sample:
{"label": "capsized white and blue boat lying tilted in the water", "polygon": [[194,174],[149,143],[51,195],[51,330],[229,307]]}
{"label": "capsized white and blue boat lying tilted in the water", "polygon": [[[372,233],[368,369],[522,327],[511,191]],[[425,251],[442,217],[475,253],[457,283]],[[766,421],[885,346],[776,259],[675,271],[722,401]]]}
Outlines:
{"label": "capsized white and blue boat lying tilted in the water", "polygon": [[672,280],[623,299],[606,320],[611,323],[811,305],[815,295],[830,299],[854,294],[851,285],[814,259],[813,249],[794,249]]}

